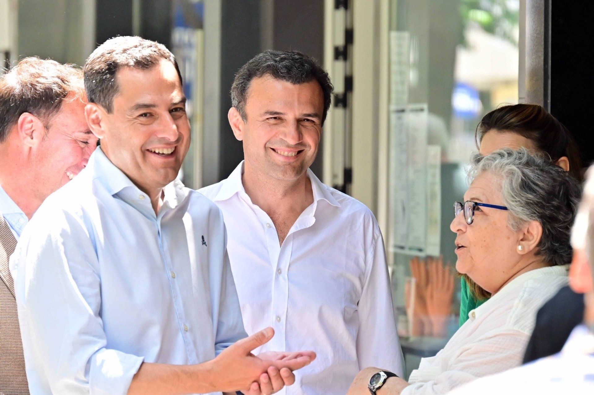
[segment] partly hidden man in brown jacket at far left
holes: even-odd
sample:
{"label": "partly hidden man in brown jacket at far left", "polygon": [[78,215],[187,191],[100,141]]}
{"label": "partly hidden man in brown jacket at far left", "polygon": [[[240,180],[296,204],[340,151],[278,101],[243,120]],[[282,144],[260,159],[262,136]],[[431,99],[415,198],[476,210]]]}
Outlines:
{"label": "partly hidden man in brown jacket at far left", "polygon": [[74,178],[96,148],[86,103],[83,72],[71,65],[24,58],[0,78],[2,394],[29,393],[8,259],[39,205]]}

